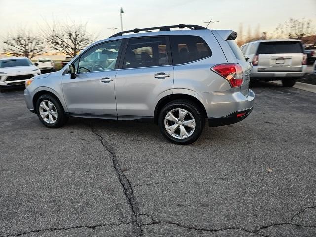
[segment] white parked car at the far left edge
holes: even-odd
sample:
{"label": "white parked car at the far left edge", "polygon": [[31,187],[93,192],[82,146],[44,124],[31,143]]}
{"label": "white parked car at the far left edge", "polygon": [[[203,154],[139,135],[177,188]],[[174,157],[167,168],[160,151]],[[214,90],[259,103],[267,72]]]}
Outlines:
{"label": "white parked car at the far left edge", "polygon": [[40,69],[25,57],[0,59],[0,92],[4,86],[23,85],[26,79],[40,75]]}

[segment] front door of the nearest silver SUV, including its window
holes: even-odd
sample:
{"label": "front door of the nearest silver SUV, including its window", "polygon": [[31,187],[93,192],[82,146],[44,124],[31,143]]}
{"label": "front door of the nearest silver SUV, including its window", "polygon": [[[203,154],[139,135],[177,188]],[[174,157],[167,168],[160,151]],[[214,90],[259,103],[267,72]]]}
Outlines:
{"label": "front door of the nearest silver SUV, including its window", "polygon": [[63,76],[63,94],[70,113],[117,118],[114,83],[121,46],[122,40],[116,40],[88,49],[74,63],[76,78]]}

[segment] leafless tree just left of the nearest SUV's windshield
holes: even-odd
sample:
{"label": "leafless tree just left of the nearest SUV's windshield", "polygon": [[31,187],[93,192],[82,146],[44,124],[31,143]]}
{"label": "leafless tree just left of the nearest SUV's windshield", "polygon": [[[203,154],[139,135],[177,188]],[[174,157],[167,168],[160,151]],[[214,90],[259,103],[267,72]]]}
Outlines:
{"label": "leafless tree just left of the nearest SUV's windshield", "polygon": [[44,31],[44,37],[51,49],[55,49],[71,57],[75,57],[79,51],[94,41],[93,36],[87,32],[85,24],[56,23],[48,25]]}

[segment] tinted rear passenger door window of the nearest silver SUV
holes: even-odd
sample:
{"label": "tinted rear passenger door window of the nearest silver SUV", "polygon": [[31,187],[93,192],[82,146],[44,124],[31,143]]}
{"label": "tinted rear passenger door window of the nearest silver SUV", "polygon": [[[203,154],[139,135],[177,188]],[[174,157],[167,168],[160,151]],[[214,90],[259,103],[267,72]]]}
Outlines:
{"label": "tinted rear passenger door window of the nearest silver SUV", "polygon": [[165,37],[143,37],[128,40],[123,68],[168,65]]}

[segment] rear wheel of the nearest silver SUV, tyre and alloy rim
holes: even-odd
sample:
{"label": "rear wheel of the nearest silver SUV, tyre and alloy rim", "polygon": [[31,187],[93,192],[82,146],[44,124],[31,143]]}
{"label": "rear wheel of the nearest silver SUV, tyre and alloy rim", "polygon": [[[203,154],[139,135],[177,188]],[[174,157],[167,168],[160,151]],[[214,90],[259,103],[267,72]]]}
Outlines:
{"label": "rear wheel of the nearest silver SUV, tyre and alloy rim", "polygon": [[204,122],[197,105],[187,100],[176,100],[162,108],[158,125],[166,139],[175,144],[186,145],[199,138]]}

